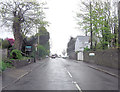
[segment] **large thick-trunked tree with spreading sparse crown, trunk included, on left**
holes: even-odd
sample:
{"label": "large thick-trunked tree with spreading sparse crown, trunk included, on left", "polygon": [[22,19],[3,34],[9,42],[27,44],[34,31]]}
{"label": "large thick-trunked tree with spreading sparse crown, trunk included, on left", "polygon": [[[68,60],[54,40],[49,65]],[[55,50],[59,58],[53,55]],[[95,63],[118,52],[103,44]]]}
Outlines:
{"label": "large thick-trunked tree with spreading sparse crown, trunk included, on left", "polygon": [[0,1],[0,14],[3,25],[12,27],[15,44],[14,47],[21,50],[23,35],[30,32],[36,25],[46,24],[43,21],[44,3],[24,0]]}

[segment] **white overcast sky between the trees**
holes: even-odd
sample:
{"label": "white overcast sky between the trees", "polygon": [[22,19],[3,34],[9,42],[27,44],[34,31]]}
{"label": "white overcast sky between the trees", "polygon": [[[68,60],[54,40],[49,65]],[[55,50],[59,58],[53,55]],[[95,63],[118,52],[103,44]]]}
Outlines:
{"label": "white overcast sky between the trees", "polygon": [[[43,0],[44,1],[44,0]],[[49,9],[44,10],[46,20],[50,22],[47,28],[50,32],[51,52],[61,54],[67,48],[70,37],[83,35],[76,27],[76,11],[80,0],[46,0]],[[2,29],[0,38],[13,37],[11,32]]]}

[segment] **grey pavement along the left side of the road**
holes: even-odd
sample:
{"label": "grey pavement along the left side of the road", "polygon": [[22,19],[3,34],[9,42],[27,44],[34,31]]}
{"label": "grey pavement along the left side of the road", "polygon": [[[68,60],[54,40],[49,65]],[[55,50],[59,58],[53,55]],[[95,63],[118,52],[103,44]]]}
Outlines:
{"label": "grey pavement along the left side of the road", "polygon": [[9,68],[2,72],[2,88],[6,88],[11,85],[11,83],[17,82],[19,79],[30,73],[35,68],[44,64],[44,60],[36,61],[36,63],[31,63],[27,66],[23,66],[20,68]]}

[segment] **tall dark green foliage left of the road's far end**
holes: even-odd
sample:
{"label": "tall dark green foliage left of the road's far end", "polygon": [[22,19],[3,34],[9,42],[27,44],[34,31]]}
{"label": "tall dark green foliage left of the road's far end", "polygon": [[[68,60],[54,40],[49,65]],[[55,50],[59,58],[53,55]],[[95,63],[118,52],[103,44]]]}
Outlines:
{"label": "tall dark green foliage left of the road's far end", "polygon": [[[37,33],[35,36],[38,37],[39,39],[37,39],[38,44],[38,56],[40,57],[44,57],[46,55],[49,55],[50,53],[50,43],[49,43],[49,32],[47,31],[47,29],[45,28],[45,26],[40,26],[38,28],[39,33]],[[34,56],[35,53],[35,49],[34,52],[32,54],[32,56]]]}

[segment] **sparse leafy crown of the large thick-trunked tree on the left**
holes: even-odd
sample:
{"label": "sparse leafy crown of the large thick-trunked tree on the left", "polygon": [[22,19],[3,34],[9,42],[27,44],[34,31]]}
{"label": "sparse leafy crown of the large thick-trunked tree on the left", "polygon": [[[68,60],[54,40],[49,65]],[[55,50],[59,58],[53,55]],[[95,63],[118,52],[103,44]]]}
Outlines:
{"label": "sparse leafy crown of the large thick-trunked tree on the left", "polygon": [[11,22],[19,22],[22,27],[21,33],[26,35],[34,25],[47,24],[46,21],[43,21],[45,18],[43,12],[45,4],[36,0],[28,2],[25,0],[0,1],[0,13],[3,24],[12,26]]}

